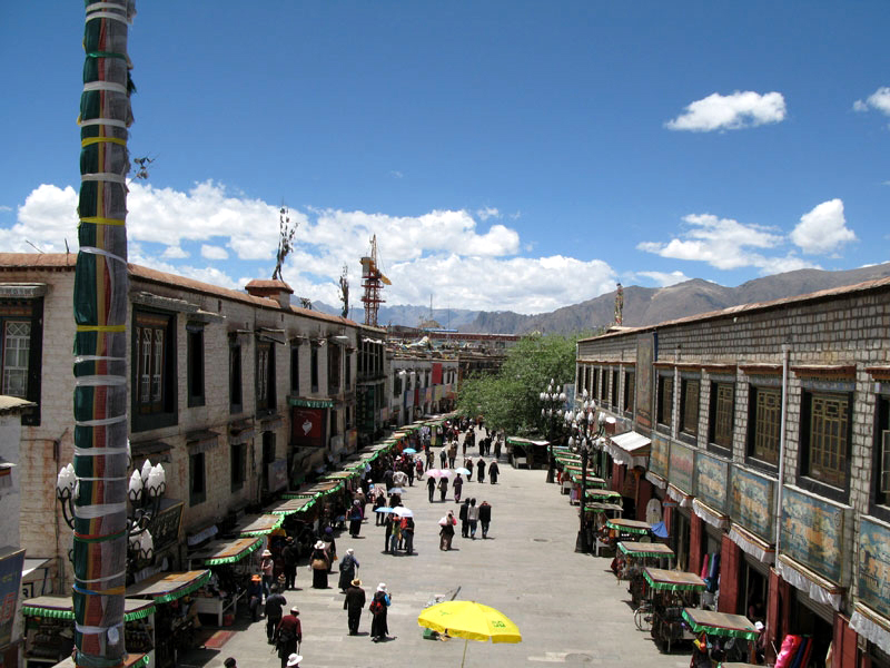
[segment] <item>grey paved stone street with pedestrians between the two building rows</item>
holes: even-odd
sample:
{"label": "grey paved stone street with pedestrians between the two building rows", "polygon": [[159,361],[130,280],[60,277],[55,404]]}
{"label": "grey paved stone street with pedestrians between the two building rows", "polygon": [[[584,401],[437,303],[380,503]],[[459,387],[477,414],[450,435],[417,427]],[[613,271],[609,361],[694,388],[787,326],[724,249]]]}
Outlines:
{"label": "grey paved stone street with pedestrians between the two building rows", "polygon": [[[475,452],[475,450],[474,450]],[[459,666],[464,640],[423,638],[417,615],[435,593],[461,587],[459,599],[476,600],[507,615],[523,635],[518,645],[476,642],[466,648],[466,666],[614,666],[686,667],[689,652],[661,655],[647,633],[634,627],[626,586],[609,569],[610,559],[574,552],[577,514],[557,485],[546,484],[546,471],[514,470],[502,462],[498,484],[464,484],[464,497],[487,500],[492,507],[490,539],[454,538],[454,550],[438,549],[438,519],[458,504],[429,503],[424,481],[405,488],[403,502],[415,512],[415,556],[383,553],[384,532],[369,518],[359,539],[348,532],[337,538],[343,556],[354,548],[362,567],[358,577],[368,595],[386,582],[393,596],[389,633],[395,638],[375,644],[368,636],[370,613],[362,617],[360,636],[349,637],[343,595],[330,576],[330,589],[310,588],[306,566],[297,576],[300,591],[286,592],[298,605],[304,642],[304,668],[333,666]],[[436,499],[438,493],[436,493]],[[451,494],[449,494],[451,498]],[[370,508],[370,505],[368,505]],[[241,668],[279,666],[266,644],[264,621],[247,625],[244,613],[236,632],[221,651],[196,651],[182,666],[222,665],[234,656]]]}

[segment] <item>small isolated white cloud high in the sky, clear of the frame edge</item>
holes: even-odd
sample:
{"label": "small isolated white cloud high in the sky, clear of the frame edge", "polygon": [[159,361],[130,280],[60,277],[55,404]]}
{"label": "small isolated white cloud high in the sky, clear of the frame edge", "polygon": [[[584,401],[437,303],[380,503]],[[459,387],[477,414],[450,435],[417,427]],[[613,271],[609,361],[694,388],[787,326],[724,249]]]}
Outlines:
{"label": "small isolated white cloud high in the sky, clear of the frame edge", "polygon": [[710,132],[781,122],[784,118],[785,99],[781,92],[760,95],[751,90],[736,90],[732,95],[714,92],[695,100],[683,114],[664,125],[671,130]]}

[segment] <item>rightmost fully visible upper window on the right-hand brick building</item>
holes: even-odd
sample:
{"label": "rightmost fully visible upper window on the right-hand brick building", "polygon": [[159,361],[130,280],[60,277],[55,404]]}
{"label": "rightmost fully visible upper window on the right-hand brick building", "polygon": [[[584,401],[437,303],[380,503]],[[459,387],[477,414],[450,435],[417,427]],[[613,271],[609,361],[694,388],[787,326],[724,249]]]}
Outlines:
{"label": "rightmost fully visible upper window on the right-hand brick building", "polygon": [[804,392],[801,473],[837,488],[847,485],[850,449],[849,394]]}

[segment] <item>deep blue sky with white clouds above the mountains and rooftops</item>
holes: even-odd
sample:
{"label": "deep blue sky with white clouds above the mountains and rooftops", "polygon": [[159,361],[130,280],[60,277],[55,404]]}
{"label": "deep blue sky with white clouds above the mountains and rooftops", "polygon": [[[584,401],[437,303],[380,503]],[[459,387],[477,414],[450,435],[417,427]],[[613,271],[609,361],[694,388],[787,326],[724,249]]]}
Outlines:
{"label": "deep blue sky with white clouds above the mountains and rooftops", "polygon": [[[130,259],[536,313],[890,261],[890,3],[137,2]],[[77,243],[83,7],[4,2],[0,250]],[[30,242],[30,244],[28,243]]]}

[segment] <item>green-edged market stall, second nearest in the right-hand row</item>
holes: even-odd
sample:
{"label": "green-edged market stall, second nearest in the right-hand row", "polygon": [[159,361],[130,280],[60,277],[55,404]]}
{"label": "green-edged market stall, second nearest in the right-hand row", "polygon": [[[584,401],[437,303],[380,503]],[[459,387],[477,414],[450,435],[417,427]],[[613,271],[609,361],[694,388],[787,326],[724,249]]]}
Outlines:
{"label": "green-edged market stall, second nearest in the right-hand row", "polygon": [[664,651],[682,640],[694,640],[695,635],[683,621],[683,609],[696,607],[705,582],[695,573],[643,569],[647,586],[647,613],[651,616],[651,632],[655,644]]}

